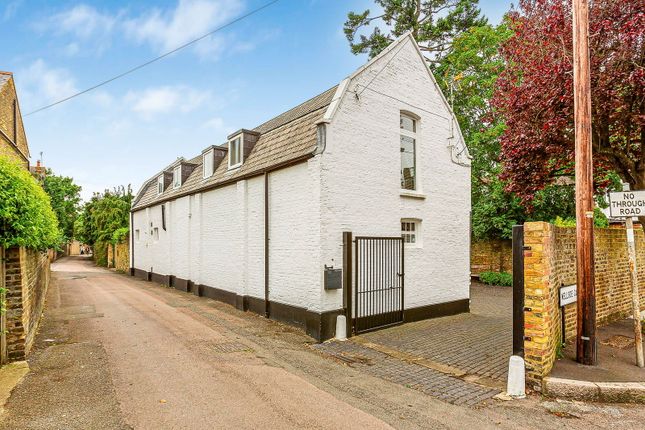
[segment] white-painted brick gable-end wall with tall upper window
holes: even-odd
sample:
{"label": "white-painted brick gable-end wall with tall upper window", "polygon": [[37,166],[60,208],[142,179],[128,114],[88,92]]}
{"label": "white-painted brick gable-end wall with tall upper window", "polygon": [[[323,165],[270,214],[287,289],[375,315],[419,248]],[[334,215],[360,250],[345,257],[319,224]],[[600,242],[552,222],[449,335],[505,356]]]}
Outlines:
{"label": "white-painted brick gable-end wall with tall upper window", "polygon": [[[406,248],[406,308],[465,299],[470,281],[470,169],[451,162],[450,112],[416,49],[407,42],[382,69],[394,52],[352,79],[328,125],[321,156],[323,264],[341,264],[343,231],[398,236],[402,218],[417,218],[422,220],[423,247]],[[357,88],[363,90],[358,99],[352,92]],[[402,110],[421,118],[417,168],[425,199],[400,195]],[[341,306],[340,291],[322,293],[324,310]]]}

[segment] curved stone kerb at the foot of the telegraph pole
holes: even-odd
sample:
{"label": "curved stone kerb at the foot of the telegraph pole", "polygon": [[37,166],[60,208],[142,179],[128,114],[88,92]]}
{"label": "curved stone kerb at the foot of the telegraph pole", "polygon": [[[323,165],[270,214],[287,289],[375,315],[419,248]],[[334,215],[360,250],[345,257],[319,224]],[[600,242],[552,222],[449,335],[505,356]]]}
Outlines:
{"label": "curved stone kerb at the foot of the telegraph pole", "polygon": [[546,377],[542,392],[549,397],[606,403],[645,404],[645,384],[640,382],[590,382]]}

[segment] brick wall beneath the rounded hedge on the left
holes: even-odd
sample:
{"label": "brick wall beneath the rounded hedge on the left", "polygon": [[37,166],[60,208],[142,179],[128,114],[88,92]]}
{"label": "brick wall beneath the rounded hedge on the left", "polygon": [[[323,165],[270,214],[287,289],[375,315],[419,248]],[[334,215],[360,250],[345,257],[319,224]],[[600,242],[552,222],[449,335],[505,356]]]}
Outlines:
{"label": "brick wall beneath the rounded hedge on the left", "polygon": [[50,280],[48,253],[5,250],[7,356],[22,360],[31,349]]}

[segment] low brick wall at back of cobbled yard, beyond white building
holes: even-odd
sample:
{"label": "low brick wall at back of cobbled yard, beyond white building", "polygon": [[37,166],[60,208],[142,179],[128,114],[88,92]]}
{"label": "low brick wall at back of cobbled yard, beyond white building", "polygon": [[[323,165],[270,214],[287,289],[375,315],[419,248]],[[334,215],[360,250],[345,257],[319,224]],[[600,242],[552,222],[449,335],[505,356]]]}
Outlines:
{"label": "low brick wall at back of cobbled yard, beyond white building", "polygon": [[482,272],[513,273],[513,248],[511,240],[484,240],[470,245],[470,275]]}

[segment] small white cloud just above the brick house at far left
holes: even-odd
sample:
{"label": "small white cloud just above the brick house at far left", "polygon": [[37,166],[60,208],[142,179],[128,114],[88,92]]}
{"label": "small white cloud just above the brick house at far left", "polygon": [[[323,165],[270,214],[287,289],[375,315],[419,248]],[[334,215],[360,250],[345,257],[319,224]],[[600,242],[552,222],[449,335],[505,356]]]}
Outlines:
{"label": "small white cloud just above the brick house at far left", "polygon": [[28,109],[68,97],[78,91],[71,73],[62,68],[51,68],[42,59],[17,73],[21,98]]}

